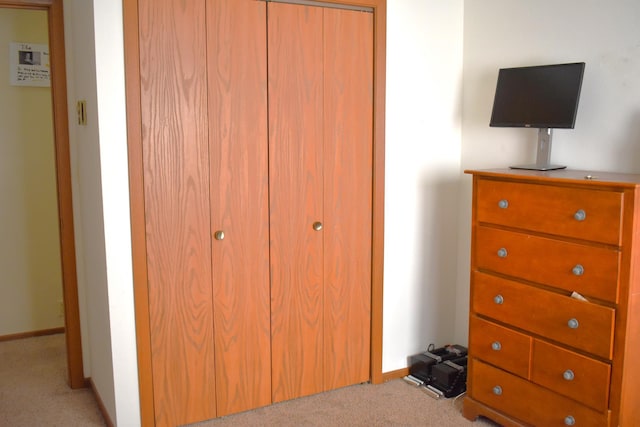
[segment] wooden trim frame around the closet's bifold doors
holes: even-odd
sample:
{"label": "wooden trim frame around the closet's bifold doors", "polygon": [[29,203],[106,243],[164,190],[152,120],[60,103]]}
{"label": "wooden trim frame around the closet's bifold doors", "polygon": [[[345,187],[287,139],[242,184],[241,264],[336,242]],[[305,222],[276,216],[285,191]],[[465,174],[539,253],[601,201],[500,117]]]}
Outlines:
{"label": "wooden trim frame around the closet's bifold doors", "polygon": [[[374,14],[370,377],[373,384],[380,384],[385,380],[382,372],[382,304],[387,0],[322,0],[318,3],[322,3],[325,6],[335,4],[366,7],[370,8]],[[136,343],[138,350],[140,417],[143,425],[153,425],[155,415],[153,408],[153,374],[151,369],[148,272],[145,243],[138,18],[138,1],[123,0],[129,197],[131,206],[131,245],[133,255]]]}

